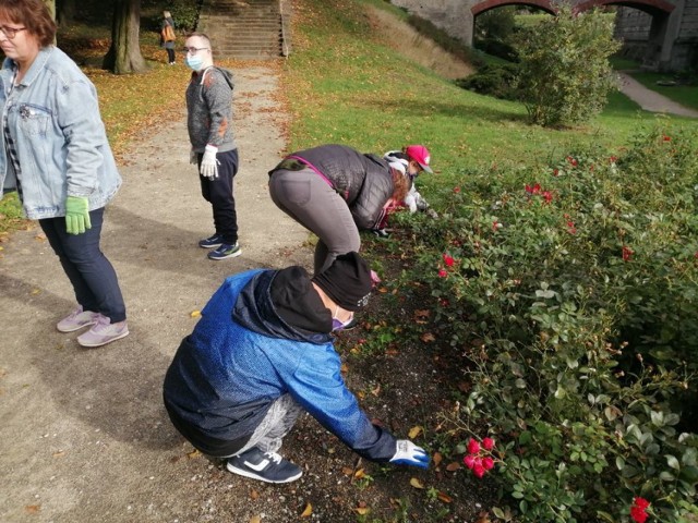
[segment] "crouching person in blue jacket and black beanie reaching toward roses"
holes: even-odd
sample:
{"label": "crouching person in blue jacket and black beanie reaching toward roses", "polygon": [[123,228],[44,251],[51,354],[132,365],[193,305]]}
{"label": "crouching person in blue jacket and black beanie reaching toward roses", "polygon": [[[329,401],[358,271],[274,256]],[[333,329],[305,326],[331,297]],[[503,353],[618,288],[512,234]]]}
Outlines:
{"label": "crouching person in blue jacket and black beanie reaching toward roses", "polygon": [[302,474],[277,452],[303,411],[368,460],[425,469],[424,450],[373,425],[340,375],[332,332],[366,305],[371,287],[357,253],[312,279],[296,266],[227,278],[167,370],[174,427],[230,472],[268,483]]}

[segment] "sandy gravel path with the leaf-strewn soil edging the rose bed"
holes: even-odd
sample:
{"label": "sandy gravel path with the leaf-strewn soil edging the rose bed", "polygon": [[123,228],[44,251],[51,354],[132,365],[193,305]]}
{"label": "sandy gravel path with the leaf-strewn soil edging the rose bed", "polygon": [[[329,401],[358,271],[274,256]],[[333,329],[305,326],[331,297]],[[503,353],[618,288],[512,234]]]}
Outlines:
{"label": "sandy gravel path with the leaf-strewn soil edging the rose bed", "polygon": [[[161,382],[196,323],[192,313],[230,273],[312,264],[306,232],[267,193],[267,170],[286,145],[277,69],[241,63],[233,71],[242,256],[210,262],[196,246],[212,233],[212,218],[189,165],[183,108],[122,158],[124,184],[107,210],[103,248],[127,300],[128,338],[86,350],[75,341],[80,332],[58,332],[55,324],[74,307],[74,296],[40,229],[2,244],[0,521],[476,521],[491,485],[462,469],[448,472],[459,457],[425,472],[380,467],[358,461],[304,416],[282,453],[305,473],[270,486],[226,472],[170,425]],[[380,299],[373,307],[380,311]],[[353,357],[364,327],[342,335],[349,387],[397,435],[420,425],[424,433],[416,439],[435,443],[435,413],[449,396],[443,360],[423,346]]]}

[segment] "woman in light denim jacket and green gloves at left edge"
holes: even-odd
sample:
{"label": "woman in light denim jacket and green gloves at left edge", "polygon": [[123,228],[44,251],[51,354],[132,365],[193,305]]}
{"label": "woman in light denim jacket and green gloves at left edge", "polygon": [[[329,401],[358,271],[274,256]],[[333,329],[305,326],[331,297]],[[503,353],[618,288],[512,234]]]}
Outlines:
{"label": "woman in light denim jacket and green gloves at left edge", "polygon": [[0,0],[0,181],[38,220],[73,285],[79,306],[58,330],[89,326],[77,342],[100,346],[129,335],[117,273],[99,247],[121,177],[95,86],[55,36],[43,0]]}

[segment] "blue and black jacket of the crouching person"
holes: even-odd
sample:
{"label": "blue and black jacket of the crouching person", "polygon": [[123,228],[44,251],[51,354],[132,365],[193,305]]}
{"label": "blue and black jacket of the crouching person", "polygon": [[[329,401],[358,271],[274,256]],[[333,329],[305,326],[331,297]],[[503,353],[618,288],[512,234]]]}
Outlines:
{"label": "blue and black jacket of the crouching person", "polygon": [[370,422],[345,386],[332,337],[299,332],[276,314],[275,275],[251,270],[227,278],[206,304],[165,378],[172,423],[202,451],[230,455],[269,405],[289,393],[358,454],[389,461],[396,439]]}

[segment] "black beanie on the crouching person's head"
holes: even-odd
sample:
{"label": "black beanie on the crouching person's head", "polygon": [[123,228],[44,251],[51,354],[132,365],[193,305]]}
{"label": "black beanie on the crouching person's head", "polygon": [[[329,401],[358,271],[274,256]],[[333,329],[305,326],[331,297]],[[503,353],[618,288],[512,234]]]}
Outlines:
{"label": "black beanie on the crouching person's head", "polygon": [[346,311],[357,312],[369,303],[371,269],[357,253],[337,256],[328,268],[313,277],[313,282]]}

